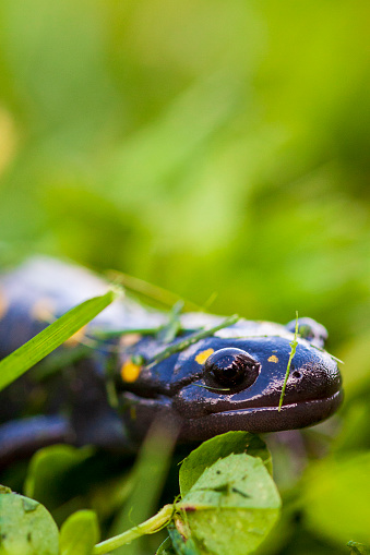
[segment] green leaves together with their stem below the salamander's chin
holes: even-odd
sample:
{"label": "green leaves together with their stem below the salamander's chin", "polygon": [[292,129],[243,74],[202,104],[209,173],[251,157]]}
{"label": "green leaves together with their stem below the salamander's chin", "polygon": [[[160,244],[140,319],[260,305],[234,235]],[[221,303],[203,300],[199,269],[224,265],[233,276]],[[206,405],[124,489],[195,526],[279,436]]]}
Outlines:
{"label": "green leaves together with their stem below the salamander's chin", "polygon": [[155,533],[165,524],[170,524],[171,545],[167,542],[159,553],[246,555],[255,551],[281,509],[281,497],[265,463],[244,453],[254,441],[268,460],[266,447],[258,439],[248,433],[229,432],[205,442],[182,463],[181,500],[165,506],[146,522],[102,542],[94,554],[116,550],[143,534]]}

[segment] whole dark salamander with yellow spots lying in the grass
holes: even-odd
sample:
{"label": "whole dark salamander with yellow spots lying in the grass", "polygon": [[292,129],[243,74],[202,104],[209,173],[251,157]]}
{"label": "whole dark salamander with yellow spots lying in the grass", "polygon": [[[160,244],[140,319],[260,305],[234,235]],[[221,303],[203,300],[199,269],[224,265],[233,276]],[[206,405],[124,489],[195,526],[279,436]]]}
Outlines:
{"label": "whole dark salamander with yellow spots lying in the grass", "polygon": [[[0,355],[45,328],[48,310],[50,317],[60,316],[106,290],[88,270],[50,258],[32,258],[4,275]],[[223,321],[184,314],[180,331],[164,342],[153,329],[163,328],[168,315],[116,301],[85,330],[93,347],[84,347],[83,339],[58,349],[46,362],[60,362],[62,369],[41,378],[43,365],[36,366],[0,394],[0,466],[61,442],[130,451],[158,414],[177,427],[179,442],[199,442],[230,430],[305,427],[335,412],[343,398],[341,374],[323,349],[325,328],[311,318],[298,321],[305,338],[297,339],[281,411],[295,321],[282,326],[241,318],[155,361],[191,333]],[[98,336],[115,330],[122,334]],[[75,361],[64,364],[65,358]]]}

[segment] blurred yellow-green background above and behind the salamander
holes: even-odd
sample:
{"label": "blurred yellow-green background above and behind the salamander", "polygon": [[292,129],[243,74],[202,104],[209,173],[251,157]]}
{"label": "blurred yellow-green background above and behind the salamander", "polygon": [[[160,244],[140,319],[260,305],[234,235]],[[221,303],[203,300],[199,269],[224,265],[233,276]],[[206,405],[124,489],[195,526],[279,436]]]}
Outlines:
{"label": "blurred yellow-green background above and behind the salamander", "polygon": [[319,319],[346,362],[337,451],[366,451],[369,16],[367,0],[2,0],[2,266],[48,253],[217,293],[215,313]]}

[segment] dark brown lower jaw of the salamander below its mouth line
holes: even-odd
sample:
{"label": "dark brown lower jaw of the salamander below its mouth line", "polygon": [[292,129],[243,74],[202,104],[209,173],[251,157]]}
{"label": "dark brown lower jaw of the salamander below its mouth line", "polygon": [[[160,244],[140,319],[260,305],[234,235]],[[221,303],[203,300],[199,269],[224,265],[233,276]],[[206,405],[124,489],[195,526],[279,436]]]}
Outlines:
{"label": "dark brown lower jaw of the salamander below its mouth line", "polygon": [[343,401],[343,390],[314,400],[306,400],[277,407],[254,407],[248,409],[214,412],[199,419],[186,421],[181,438],[204,441],[215,434],[244,430],[252,433],[281,432],[317,424],[331,417]]}

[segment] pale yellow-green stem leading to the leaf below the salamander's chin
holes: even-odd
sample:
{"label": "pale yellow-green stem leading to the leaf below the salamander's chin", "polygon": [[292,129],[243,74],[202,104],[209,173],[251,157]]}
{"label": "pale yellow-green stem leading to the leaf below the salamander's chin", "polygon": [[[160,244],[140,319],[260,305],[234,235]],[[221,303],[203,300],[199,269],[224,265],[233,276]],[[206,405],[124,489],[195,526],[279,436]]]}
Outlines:
{"label": "pale yellow-green stem leading to the leaf below the salamander's chin", "polygon": [[115,535],[109,540],[97,543],[93,548],[93,555],[104,555],[105,553],[110,553],[114,550],[117,550],[121,545],[126,545],[127,543],[131,543],[132,540],[140,538],[145,534],[155,534],[162,528],[167,526],[171,520],[174,515],[174,505],[165,505],[159,512],[157,512],[154,517],[145,520],[141,524],[130,528],[126,532]]}

